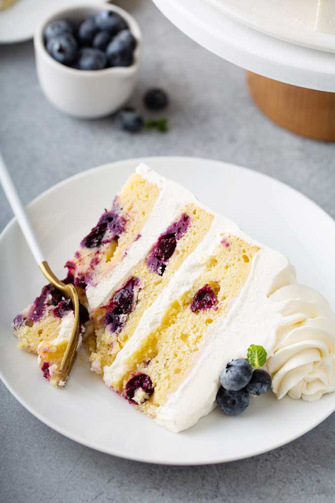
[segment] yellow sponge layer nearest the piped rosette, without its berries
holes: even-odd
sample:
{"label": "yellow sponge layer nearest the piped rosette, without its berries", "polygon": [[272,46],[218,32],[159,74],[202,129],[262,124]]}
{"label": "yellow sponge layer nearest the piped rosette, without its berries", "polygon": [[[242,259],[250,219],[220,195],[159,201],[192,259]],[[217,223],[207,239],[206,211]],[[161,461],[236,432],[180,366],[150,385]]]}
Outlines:
{"label": "yellow sponge layer nearest the piped rosette, without its berries", "polygon": [[[237,236],[226,236],[207,260],[205,273],[191,290],[171,303],[160,326],[131,356],[122,378],[112,383],[113,388],[126,395],[126,384],[134,375],[148,375],[154,392],[139,407],[155,416],[157,407],[166,403],[168,395],[178,389],[194,365],[208,325],[229,312],[248,279],[258,249]],[[215,308],[192,312],[194,295],[204,285],[210,285],[217,304]]]}

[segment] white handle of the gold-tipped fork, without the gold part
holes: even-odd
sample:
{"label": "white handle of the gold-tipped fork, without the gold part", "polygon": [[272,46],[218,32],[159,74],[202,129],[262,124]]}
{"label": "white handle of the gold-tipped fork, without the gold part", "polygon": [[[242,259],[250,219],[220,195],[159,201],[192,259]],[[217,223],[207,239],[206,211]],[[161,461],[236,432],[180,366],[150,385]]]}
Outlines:
{"label": "white handle of the gold-tipped fork, without the gold part", "polygon": [[16,216],[21,230],[26,238],[26,241],[30,247],[30,250],[36,260],[37,264],[40,265],[44,262],[44,256],[40,245],[37,241],[35,232],[33,231],[32,225],[26,213],[26,210],[22,204],[19,194],[13,184],[13,180],[7,170],[4,158],[0,152],[0,182],[3,186],[7,199],[12,207],[14,215]]}

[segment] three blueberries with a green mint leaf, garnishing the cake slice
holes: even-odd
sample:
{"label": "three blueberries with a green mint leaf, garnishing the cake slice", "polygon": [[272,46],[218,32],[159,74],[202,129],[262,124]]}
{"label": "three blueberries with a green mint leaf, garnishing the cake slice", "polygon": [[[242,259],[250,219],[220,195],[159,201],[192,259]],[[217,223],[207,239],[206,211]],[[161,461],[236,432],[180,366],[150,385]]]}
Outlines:
{"label": "three blueberries with a green mint leaf, garnishing the cake slice", "polygon": [[[271,376],[261,367],[266,362],[266,351],[262,346],[252,344],[247,359],[232,360],[220,374],[221,386],[216,395],[216,403],[229,415],[243,412],[249,405],[249,395],[262,395],[271,388]],[[256,367],[253,371],[253,367]]]}

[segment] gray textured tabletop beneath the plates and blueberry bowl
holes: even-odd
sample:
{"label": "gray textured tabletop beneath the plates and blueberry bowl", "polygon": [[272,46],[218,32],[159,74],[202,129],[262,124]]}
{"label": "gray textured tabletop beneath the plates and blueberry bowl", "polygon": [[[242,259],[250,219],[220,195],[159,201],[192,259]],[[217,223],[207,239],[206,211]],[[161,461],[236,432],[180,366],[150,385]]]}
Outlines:
{"label": "gray textured tabletop beneath the plates and blueberry bowl", "polygon": [[[149,0],[120,0],[137,17],[144,54],[134,104],[152,85],[170,94],[166,135],[120,132],[55,110],[39,88],[31,42],[0,46],[0,148],[25,202],[64,178],[141,155],[194,155],[267,173],[335,216],[335,145],[270,123],[251,102],[244,71],[186,38]],[[0,191],[0,229],[12,217]],[[164,467],[75,444],[40,423],[0,384],[0,500],[334,501],[335,414],[268,454],[227,465]]]}

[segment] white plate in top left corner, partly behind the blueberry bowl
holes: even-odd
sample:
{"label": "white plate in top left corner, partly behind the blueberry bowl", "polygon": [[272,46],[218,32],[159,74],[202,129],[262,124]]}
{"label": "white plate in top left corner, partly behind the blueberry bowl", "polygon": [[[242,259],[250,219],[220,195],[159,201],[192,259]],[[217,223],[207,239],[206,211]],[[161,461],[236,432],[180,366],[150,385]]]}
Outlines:
{"label": "white plate in top left corner, partly behind the blueberry bowl", "polygon": [[0,11],[0,44],[29,40],[42,19],[76,3],[82,0],[19,0],[9,9]]}

